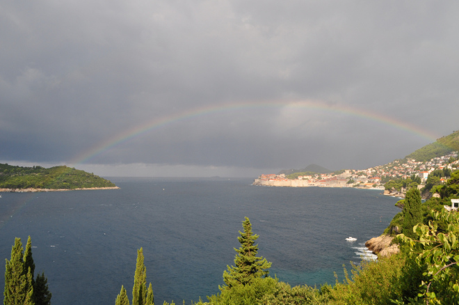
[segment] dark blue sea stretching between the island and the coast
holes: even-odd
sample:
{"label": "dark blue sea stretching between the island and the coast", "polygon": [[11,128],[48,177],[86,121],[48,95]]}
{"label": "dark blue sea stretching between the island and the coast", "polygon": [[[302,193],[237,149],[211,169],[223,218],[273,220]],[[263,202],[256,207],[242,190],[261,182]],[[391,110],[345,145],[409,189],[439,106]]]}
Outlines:
{"label": "dark blue sea stretching between the island and the coast", "polygon": [[131,298],[140,247],[159,304],[216,294],[245,216],[272,276],[292,286],[335,283],[333,272],[360,261],[363,243],[398,212],[396,198],[374,190],[254,187],[250,179],[111,180],[121,189],[0,198],[0,258],[10,258],[15,237],[25,246],[31,235],[35,273],[45,272],[53,304],[115,304],[121,285]]}

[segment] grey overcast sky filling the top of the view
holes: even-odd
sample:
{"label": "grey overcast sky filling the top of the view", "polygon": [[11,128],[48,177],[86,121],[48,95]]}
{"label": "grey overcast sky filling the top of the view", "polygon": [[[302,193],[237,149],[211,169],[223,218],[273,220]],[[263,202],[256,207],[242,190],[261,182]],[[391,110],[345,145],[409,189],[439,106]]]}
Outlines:
{"label": "grey overcast sky filling the top of the view", "polygon": [[0,162],[385,164],[459,129],[458,16],[457,1],[1,0]]}

